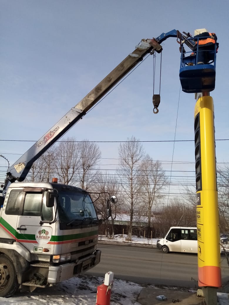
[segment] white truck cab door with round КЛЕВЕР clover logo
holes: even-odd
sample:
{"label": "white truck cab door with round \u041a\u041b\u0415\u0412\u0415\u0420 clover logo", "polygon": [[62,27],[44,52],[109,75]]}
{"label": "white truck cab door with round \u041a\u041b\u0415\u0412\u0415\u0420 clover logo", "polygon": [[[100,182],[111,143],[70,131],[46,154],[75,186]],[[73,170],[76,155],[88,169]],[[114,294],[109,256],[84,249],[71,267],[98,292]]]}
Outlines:
{"label": "white truck cab door with round \u041a\u041b\u0415\u0412\u0415\u0420 clover logo", "polygon": [[[53,245],[51,237],[54,224],[41,221],[53,220],[53,208],[47,208],[46,191],[41,188],[25,188],[21,215],[18,216],[16,226],[17,241],[21,242],[31,253],[51,254]],[[45,248],[45,251],[43,249]]]}

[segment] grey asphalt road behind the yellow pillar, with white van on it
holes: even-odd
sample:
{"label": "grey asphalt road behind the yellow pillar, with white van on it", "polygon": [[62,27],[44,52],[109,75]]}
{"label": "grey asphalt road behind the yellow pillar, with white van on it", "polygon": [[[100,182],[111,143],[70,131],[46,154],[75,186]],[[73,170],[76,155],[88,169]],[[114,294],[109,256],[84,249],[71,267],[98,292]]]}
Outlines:
{"label": "grey asphalt road behind the yellow pillar, with white van on it", "polygon": [[[104,277],[108,271],[114,278],[144,284],[172,285],[197,288],[197,254],[167,253],[158,249],[98,245],[102,251],[101,261],[87,274]],[[229,267],[225,256],[221,256],[222,282],[229,281]]]}

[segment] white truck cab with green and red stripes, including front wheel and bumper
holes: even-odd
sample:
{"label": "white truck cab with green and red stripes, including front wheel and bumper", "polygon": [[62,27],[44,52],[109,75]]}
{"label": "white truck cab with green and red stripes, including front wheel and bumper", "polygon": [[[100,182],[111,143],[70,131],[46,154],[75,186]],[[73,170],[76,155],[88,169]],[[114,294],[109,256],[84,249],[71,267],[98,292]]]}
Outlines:
{"label": "white truck cab with green and red stripes, including front wheel and bumper", "polygon": [[14,182],[0,211],[0,296],[64,281],[100,262],[99,220],[88,192]]}

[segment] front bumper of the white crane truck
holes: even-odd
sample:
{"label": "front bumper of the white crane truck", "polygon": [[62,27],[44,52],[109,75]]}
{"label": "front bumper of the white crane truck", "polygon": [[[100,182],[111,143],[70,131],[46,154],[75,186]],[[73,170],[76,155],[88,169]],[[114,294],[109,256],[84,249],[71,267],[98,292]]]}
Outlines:
{"label": "front bumper of the white crane truck", "polygon": [[73,278],[84,271],[87,271],[100,262],[101,251],[96,250],[93,254],[78,260],[74,263],[66,263],[59,266],[50,266],[48,283],[55,284]]}

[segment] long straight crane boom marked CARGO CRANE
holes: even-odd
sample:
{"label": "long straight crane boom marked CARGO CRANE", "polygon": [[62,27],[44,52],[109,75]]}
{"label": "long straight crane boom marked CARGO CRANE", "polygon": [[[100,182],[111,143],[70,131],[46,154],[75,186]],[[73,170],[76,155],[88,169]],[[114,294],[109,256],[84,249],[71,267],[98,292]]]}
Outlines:
{"label": "long straight crane boom marked CARGO CRANE", "polygon": [[142,39],[132,53],[8,168],[6,182],[24,181],[32,164],[80,120],[119,80],[131,71],[144,56],[149,52],[154,52],[154,50],[160,53],[162,46],[155,39]]}

